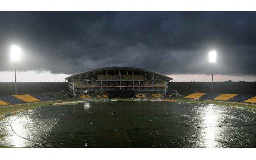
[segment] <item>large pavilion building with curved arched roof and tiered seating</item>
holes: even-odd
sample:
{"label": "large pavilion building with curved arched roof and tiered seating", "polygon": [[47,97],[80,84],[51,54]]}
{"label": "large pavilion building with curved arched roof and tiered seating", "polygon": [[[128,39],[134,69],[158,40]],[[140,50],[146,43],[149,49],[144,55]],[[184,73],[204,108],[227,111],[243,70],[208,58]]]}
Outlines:
{"label": "large pavilion building with curved arched roof and tiered seating", "polygon": [[92,95],[101,95],[102,98],[139,95],[145,98],[166,96],[167,84],[173,78],[141,68],[106,67],[88,70],[65,79],[68,80],[69,93],[77,98],[89,98]]}

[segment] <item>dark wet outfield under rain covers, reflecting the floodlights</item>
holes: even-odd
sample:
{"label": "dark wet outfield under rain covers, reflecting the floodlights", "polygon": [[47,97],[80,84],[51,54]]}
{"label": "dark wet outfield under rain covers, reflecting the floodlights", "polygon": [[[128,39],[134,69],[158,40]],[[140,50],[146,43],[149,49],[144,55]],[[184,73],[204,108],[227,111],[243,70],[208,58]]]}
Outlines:
{"label": "dark wet outfield under rain covers, reflecting the floodlights", "polygon": [[42,106],[0,121],[0,146],[255,148],[256,114],[215,104],[86,102]]}

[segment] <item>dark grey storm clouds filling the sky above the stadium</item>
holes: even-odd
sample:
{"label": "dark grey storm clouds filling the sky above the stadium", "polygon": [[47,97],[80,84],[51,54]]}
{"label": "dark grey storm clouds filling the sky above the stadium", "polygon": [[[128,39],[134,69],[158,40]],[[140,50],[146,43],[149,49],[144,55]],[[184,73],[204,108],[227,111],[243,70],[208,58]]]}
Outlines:
{"label": "dark grey storm clouds filling the sky above the stadium", "polygon": [[256,12],[0,12],[0,71],[76,74],[130,66],[163,74],[256,75]]}

